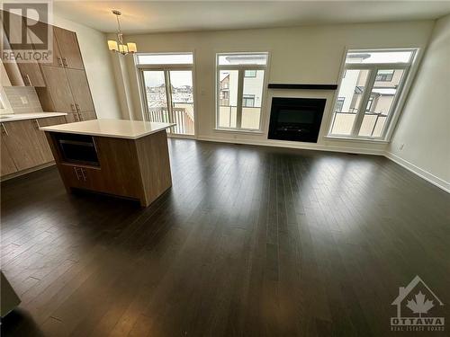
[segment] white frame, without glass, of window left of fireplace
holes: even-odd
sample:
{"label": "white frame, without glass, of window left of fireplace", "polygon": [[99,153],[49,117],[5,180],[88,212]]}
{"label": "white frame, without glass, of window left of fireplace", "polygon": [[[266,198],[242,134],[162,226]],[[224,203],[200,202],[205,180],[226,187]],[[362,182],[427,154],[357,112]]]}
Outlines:
{"label": "white frame, without glass, of window left of fireplace", "polygon": [[[224,55],[266,55],[266,64],[241,64],[241,65],[220,65],[219,58]],[[267,80],[268,80],[268,67],[270,64],[270,53],[268,51],[243,51],[243,52],[217,52],[216,53],[216,78],[215,78],[215,130],[217,131],[229,131],[229,132],[250,132],[250,133],[262,133],[263,132],[263,117],[266,111],[266,95],[267,95]],[[220,71],[221,70],[238,70],[238,98],[237,98],[237,116],[236,116],[236,128],[226,128],[219,125],[219,113],[220,113]],[[242,108],[243,108],[243,96],[244,96],[244,78],[246,70],[264,70],[263,78],[263,92],[261,94],[261,111],[259,116],[258,129],[243,129],[241,128],[242,122]],[[257,76],[256,76],[257,77]]]}

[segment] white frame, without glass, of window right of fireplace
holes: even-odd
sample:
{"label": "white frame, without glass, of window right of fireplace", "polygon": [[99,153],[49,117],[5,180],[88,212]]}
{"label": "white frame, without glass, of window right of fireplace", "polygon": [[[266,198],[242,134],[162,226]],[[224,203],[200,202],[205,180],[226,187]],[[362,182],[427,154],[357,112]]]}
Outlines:
{"label": "white frame, without glass, of window right of fireplace", "polygon": [[[352,52],[358,53],[370,53],[370,52],[380,52],[380,51],[410,51],[411,57],[408,62],[396,62],[396,63],[346,63],[347,54]],[[413,81],[413,77],[417,72],[418,60],[419,60],[419,48],[400,48],[400,49],[346,49],[344,52],[344,57],[342,59],[341,71],[339,72],[338,77],[338,88],[335,93],[334,103],[332,105],[332,111],[330,113],[329,120],[329,129],[327,138],[341,138],[348,140],[363,140],[363,141],[374,141],[374,142],[389,142],[390,137],[392,137],[392,131],[395,127],[396,121],[398,120],[401,112],[401,108],[405,102],[405,98],[410,91],[410,85]],[[340,90],[340,86],[342,84],[342,79],[344,75],[347,74],[347,70],[356,69],[356,70],[365,70],[368,69],[371,73],[367,78],[367,82],[365,84],[365,93],[362,101],[360,102],[360,108],[358,112],[356,112],[356,120],[353,124],[352,131],[350,135],[340,135],[331,133],[333,128],[333,121],[336,118],[336,108],[338,106],[338,93]],[[368,136],[359,136],[359,130],[361,129],[361,125],[363,123],[365,117],[365,108],[370,99],[370,93],[374,88],[374,83],[376,81],[376,74],[378,70],[403,70],[403,75],[401,77],[401,83],[398,85],[397,93],[395,95],[394,101],[392,102],[391,110],[389,111],[389,115],[385,121],[385,125],[383,127],[383,132],[380,137],[368,137]]]}

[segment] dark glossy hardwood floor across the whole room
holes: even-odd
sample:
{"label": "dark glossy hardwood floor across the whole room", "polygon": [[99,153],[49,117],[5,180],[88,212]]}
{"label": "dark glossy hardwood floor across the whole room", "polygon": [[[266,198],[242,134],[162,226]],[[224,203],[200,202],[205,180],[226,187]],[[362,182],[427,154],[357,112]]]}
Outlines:
{"label": "dark glossy hardwood floor across the whole room", "polygon": [[2,183],[2,268],[22,298],[2,335],[410,336],[390,317],[416,275],[450,306],[450,195],[401,166],[169,146],[173,188],[149,208],[69,195],[54,167]]}

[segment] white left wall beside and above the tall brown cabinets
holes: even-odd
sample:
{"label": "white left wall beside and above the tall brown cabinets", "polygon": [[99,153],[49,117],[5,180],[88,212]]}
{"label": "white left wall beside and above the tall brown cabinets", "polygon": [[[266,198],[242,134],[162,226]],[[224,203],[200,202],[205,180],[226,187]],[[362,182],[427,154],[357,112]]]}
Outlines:
{"label": "white left wall beside and above the tall brown cabinets", "polygon": [[106,45],[106,35],[58,15],[54,15],[53,24],[76,32],[97,117],[121,119],[121,108],[117,98],[110,51]]}

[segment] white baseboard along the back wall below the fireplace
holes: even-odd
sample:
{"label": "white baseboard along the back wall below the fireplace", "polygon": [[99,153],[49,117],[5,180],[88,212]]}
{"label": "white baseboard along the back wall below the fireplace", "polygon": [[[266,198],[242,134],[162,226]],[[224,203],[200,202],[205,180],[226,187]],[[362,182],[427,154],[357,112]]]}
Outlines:
{"label": "white baseboard along the back wall below the fireplace", "polygon": [[208,142],[219,142],[219,143],[229,143],[229,144],[244,144],[244,145],[256,145],[256,146],[275,146],[275,147],[286,147],[286,148],[298,148],[302,150],[317,150],[317,151],[331,151],[331,152],[341,152],[349,154],[360,154],[360,155],[384,155],[384,150],[378,150],[373,148],[362,148],[362,147],[347,147],[347,146],[324,146],[315,143],[299,143],[290,142],[283,140],[271,140],[271,141],[256,141],[248,139],[230,139],[222,137],[204,137],[199,136],[198,140],[204,140]]}

